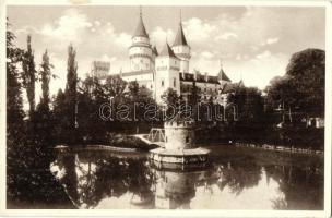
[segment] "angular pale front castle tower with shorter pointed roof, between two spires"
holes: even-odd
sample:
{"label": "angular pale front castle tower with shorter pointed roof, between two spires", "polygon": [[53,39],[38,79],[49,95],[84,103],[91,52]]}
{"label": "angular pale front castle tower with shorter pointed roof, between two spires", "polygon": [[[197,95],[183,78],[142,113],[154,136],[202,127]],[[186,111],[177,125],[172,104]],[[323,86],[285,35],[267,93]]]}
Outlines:
{"label": "angular pale front castle tower with shorter pointed roof, between two spires", "polygon": [[180,95],[180,60],[175,56],[166,41],[163,50],[155,59],[155,92],[156,102],[161,104],[161,96],[168,88],[173,88]]}

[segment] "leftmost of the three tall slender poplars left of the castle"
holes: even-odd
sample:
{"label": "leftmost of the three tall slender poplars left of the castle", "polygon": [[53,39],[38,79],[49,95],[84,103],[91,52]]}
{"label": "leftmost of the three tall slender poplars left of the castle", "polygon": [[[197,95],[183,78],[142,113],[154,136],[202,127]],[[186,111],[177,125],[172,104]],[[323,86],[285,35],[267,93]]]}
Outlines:
{"label": "leftmost of the three tall slender poplars left of the castle", "polygon": [[23,86],[26,89],[27,100],[29,105],[29,117],[32,119],[35,111],[35,82],[37,71],[35,69],[34,53],[31,46],[31,35],[27,35],[27,50],[24,52],[22,58]]}

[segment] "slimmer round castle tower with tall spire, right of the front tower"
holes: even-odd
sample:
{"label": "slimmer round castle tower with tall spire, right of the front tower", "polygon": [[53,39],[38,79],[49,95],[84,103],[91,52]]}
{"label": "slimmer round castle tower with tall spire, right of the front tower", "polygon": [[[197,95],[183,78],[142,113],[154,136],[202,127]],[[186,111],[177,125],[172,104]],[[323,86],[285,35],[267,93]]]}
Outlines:
{"label": "slimmer round castle tower with tall spire, right of the front tower", "polygon": [[180,22],[177,35],[175,37],[174,44],[171,46],[174,53],[180,59],[180,72],[189,72],[189,61],[190,61],[190,46],[185,37],[182,21],[180,15]]}

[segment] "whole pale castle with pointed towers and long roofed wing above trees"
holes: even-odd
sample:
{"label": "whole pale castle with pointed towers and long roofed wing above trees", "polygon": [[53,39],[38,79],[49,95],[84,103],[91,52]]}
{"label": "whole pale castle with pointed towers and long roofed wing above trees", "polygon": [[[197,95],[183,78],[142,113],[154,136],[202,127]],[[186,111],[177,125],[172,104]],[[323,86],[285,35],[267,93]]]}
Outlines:
{"label": "whole pale castle with pointed towers and long roofed wing above trees", "polygon": [[146,87],[153,93],[156,102],[163,101],[162,95],[171,88],[178,95],[187,98],[191,94],[193,83],[202,99],[212,99],[226,104],[226,94],[242,83],[232,83],[223,69],[216,76],[189,72],[191,48],[187,43],[182,23],[179,22],[177,35],[171,46],[165,41],[161,52],[150,43],[142,12],[129,47],[130,71],[121,72],[120,76],[127,82],[137,81],[140,87]]}

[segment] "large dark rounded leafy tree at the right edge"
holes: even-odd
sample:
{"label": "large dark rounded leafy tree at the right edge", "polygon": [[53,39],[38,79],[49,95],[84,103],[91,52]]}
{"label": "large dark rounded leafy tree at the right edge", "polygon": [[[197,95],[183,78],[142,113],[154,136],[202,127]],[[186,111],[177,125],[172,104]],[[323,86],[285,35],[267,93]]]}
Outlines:
{"label": "large dark rounded leafy tree at the right edge", "polygon": [[294,53],[286,75],[274,77],[266,87],[268,104],[272,108],[293,111],[303,117],[322,117],[324,113],[325,55],[323,50],[306,49]]}

